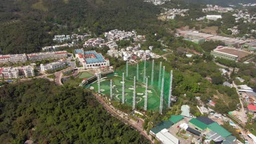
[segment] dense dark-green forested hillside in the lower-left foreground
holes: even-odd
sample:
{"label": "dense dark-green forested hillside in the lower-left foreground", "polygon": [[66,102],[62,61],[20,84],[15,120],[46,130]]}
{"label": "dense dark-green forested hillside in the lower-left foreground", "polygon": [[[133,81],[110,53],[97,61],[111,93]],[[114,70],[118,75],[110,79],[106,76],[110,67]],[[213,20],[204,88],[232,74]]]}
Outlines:
{"label": "dense dark-green forested hillside in the lower-left foreground", "polygon": [[0,89],[0,141],[24,143],[149,143],[114,118],[82,88],[38,79]]}

